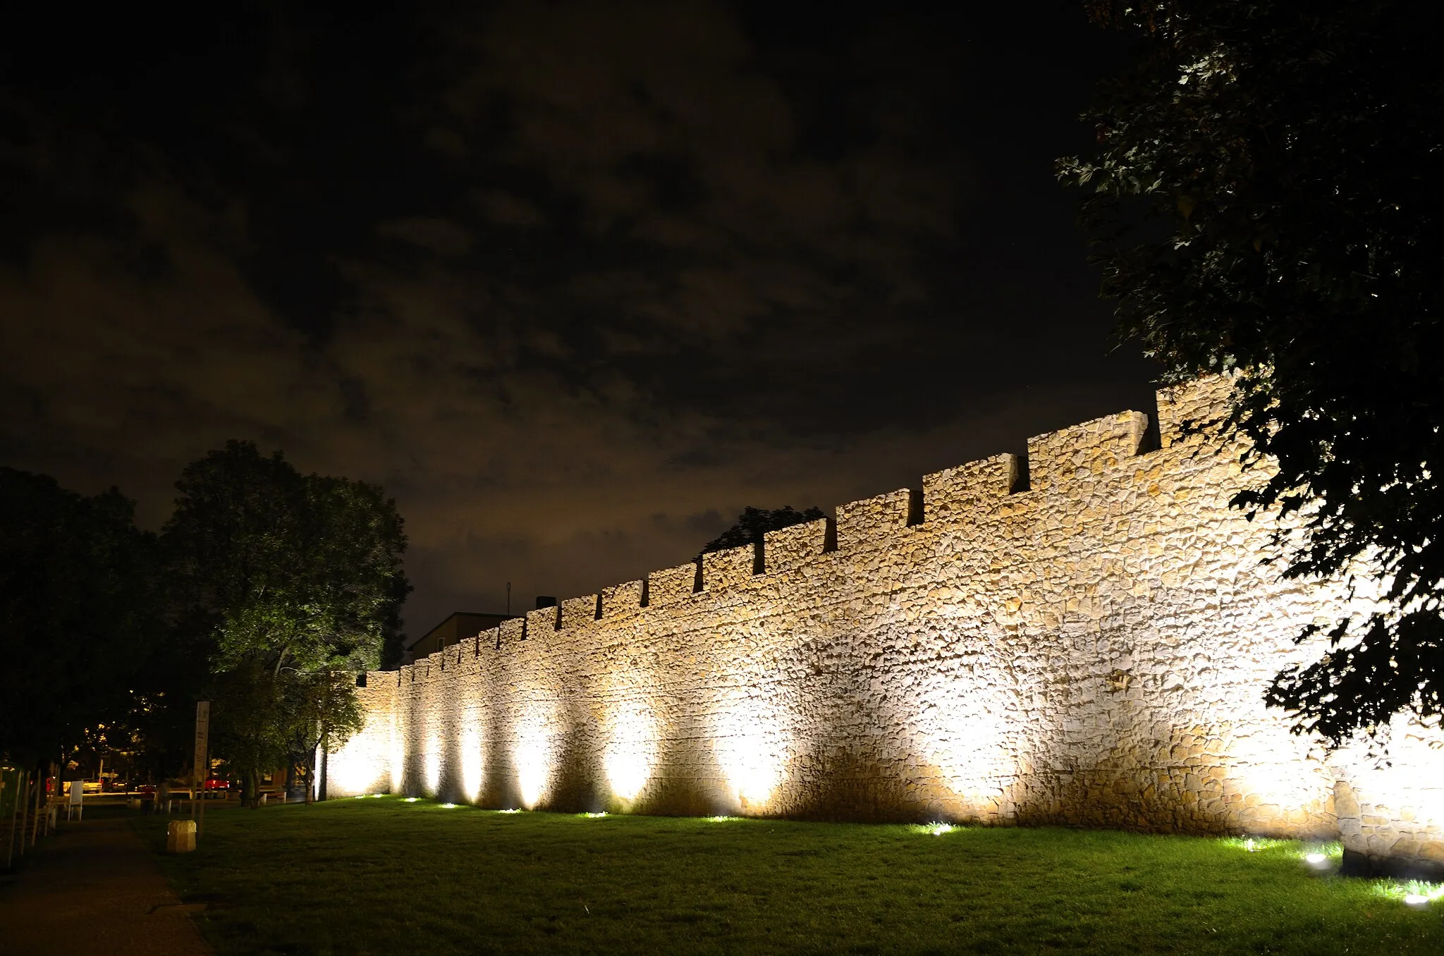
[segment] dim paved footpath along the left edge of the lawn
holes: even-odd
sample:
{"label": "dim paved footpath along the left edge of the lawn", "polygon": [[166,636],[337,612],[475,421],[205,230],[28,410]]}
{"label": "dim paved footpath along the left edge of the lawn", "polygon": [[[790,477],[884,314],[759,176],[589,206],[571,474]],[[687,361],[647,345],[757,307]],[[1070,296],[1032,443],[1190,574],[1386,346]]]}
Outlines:
{"label": "dim paved footpath along the left edge of the lawn", "polygon": [[0,884],[0,955],[209,955],[126,817],[61,823]]}

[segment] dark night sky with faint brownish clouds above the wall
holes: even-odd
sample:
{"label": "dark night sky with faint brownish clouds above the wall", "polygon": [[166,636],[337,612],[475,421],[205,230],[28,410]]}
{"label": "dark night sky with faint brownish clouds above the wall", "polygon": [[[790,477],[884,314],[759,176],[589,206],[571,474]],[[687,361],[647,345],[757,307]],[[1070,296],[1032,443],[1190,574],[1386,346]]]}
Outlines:
{"label": "dark night sky with faint brownish clouds above the wall", "polygon": [[1152,410],[1077,3],[293,6],[7,26],[0,464],[153,529],[228,438],[383,482],[416,635]]}

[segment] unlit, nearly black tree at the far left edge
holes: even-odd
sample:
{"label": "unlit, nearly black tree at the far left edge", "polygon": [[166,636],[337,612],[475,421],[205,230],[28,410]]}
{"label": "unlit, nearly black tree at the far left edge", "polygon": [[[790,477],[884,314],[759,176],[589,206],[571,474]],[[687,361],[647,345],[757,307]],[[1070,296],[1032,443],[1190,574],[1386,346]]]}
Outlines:
{"label": "unlit, nearly black tree at the far left edge", "polygon": [[33,762],[124,716],[160,633],[156,540],[117,490],[0,468],[0,752]]}

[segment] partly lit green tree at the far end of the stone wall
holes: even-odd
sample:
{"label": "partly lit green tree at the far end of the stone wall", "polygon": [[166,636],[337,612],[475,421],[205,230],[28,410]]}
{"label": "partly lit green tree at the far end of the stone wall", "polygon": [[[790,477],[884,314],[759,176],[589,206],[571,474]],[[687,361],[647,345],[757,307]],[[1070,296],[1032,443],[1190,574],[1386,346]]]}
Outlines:
{"label": "partly lit green tree at the far end of the stone wall", "polygon": [[321,713],[322,734],[349,726],[355,673],[378,664],[410,592],[401,517],[377,485],[302,475],[250,442],[192,462],[176,488],[162,542],[214,640],[218,744],[258,774],[295,751],[297,713]]}

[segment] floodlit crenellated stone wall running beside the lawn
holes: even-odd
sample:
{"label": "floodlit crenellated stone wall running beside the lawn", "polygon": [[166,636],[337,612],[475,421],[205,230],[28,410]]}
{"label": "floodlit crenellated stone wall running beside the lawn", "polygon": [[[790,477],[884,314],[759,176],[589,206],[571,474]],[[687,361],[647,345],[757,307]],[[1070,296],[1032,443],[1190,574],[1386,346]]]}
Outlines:
{"label": "floodlit crenellated stone wall running beside the lawn", "polygon": [[[1229,384],[838,508],[371,673],[334,793],[490,807],[1339,838],[1444,862],[1444,744],[1321,761],[1266,711],[1341,588],[1259,566]],[[1018,485],[1027,469],[1028,488]],[[645,604],[643,598],[645,596]],[[1366,608],[1353,608],[1354,612]]]}

